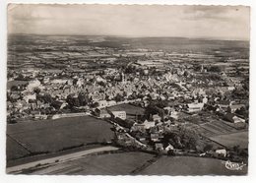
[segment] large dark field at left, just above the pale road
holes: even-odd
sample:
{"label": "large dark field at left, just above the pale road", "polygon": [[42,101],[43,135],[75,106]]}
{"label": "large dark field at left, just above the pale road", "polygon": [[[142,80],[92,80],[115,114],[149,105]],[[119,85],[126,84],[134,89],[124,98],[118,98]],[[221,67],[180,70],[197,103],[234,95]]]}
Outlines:
{"label": "large dark field at left, just above the pale road", "polygon": [[[87,144],[110,142],[112,125],[90,116],[24,122],[7,126],[7,160],[32,153],[59,152]],[[17,143],[19,142],[19,143]]]}

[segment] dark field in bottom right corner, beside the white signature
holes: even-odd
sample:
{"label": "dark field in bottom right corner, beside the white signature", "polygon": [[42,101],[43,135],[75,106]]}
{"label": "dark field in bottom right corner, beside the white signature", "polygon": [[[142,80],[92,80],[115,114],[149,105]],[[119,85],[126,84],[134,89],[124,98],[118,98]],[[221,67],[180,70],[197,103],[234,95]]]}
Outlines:
{"label": "dark field in bottom right corner, beside the white signature", "polygon": [[247,167],[242,170],[228,170],[224,161],[214,158],[191,156],[162,156],[139,174],[143,175],[244,175]]}

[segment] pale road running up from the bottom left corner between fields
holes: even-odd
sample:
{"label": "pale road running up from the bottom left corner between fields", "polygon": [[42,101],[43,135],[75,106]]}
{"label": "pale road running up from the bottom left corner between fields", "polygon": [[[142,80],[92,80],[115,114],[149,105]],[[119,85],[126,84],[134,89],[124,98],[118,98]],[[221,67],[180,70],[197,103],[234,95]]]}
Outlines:
{"label": "pale road running up from the bottom left corner between fields", "polygon": [[101,148],[96,148],[96,149],[92,149],[92,150],[86,150],[86,151],[82,151],[82,152],[68,153],[65,155],[60,155],[60,156],[56,156],[56,157],[51,157],[51,158],[46,158],[46,159],[42,159],[42,160],[29,162],[26,164],[8,167],[8,168],[6,168],[6,173],[17,174],[17,173],[22,172],[23,169],[29,169],[29,168],[32,168],[32,167],[38,166],[38,165],[52,164],[52,163],[56,164],[56,163],[61,163],[61,162],[65,162],[68,160],[78,159],[84,155],[94,153],[94,152],[109,152],[109,151],[117,151],[117,150],[119,150],[119,148],[107,146],[107,147],[101,147]]}

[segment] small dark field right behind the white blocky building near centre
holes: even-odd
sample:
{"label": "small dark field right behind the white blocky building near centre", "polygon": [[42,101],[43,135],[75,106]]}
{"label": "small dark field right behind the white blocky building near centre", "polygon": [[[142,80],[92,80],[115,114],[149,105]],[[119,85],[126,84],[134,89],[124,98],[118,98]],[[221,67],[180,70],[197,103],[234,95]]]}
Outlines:
{"label": "small dark field right behind the white blocky building near centre", "polygon": [[119,104],[119,105],[115,105],[115,106],[111,106],[108,107],[109,110],[114,111],[120,111],[120,110],[124,110],[126,112],[126,116],[128,119],[135,119],[136,115],[143,115],[145,109],[139,106],[135,106],[135,105],[131,105],[128,103],[124,103],[124,104]]}

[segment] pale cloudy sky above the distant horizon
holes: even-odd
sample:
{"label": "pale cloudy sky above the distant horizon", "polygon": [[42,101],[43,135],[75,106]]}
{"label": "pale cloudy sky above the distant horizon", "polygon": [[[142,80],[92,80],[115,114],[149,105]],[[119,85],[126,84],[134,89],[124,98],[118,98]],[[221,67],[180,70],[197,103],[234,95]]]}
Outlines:
{"label": "pale cloudy sky above the distant horizon", "polygon": [[115,36],[250,37],[245,6],[8,6],[8,33]]}

